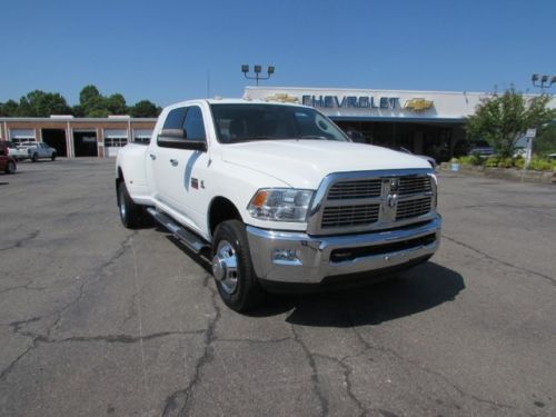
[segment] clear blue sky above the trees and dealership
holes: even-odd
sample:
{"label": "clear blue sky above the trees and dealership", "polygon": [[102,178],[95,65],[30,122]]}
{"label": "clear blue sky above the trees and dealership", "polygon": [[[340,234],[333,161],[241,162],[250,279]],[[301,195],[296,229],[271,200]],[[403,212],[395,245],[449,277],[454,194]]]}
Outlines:
{"label": "clear blue sky above the trees and dealership", "polygon": [[[556,75],[554,0],[0,0],[0,101],[70,105],[95,85],[128,105],[241,97],[261,85],[538,91]],[[251,67],[252,68],[252,67]],[[556,86],[553,87],[553,90]]]}

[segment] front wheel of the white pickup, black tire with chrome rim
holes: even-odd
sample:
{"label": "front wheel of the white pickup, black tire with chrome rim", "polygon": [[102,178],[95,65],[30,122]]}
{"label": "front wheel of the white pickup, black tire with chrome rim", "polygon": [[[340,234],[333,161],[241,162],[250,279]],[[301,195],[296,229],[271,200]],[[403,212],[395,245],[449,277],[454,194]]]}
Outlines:
{"label": "front wheel of the white pickup, black tire with chrome rim", "polygon": [[[226,268],[226,258],[235,258],[236,268]],[[232,265],[232,264],[230,264]],[[236,279],[230,271],[235,269]],[[212,239],[212,275],[222,301],[235,311],[260,305],[264,291],[252,267],[245,225],[227,220],[218,225]]]}

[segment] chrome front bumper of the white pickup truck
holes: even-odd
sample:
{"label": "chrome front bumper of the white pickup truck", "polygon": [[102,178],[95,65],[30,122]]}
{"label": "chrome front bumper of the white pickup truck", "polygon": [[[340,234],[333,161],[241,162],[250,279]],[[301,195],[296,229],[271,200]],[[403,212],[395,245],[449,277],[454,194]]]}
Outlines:
{"label": "chrome front bumper of the white pickup truck", "polygon": [[312,237],[248,226],[247,236],[259,278],[319,284],[330,276],[403,267],[431,256],[440,244],[440,226],[441,218],[435,215],[430,221],[415,227],[361,235]]}

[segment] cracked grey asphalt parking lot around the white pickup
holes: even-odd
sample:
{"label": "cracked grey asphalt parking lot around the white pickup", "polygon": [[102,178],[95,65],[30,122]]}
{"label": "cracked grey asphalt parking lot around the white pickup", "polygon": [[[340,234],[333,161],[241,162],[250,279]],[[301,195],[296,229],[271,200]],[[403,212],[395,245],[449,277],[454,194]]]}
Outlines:
{"label": "cracked grey asphalt parking lot around the white pickup", "polygon": [[120,226],[113,160],[20,163],[0,176],[0,415],[556,415],[556,187],[439,187],[430,262],[242,316],[168,234]]}

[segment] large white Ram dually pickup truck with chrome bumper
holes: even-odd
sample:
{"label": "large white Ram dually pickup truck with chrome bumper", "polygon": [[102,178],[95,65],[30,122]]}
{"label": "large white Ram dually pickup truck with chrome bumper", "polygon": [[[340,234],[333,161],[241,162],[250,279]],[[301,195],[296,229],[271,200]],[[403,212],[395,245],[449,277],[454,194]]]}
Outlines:
{"label": "large white Ram dually pickup truck with chrome bumper", "polygon": [[163,109],[148,146],[116,162],[119,215],[153,217],[208,258],[226,305],[266,290],[374,281],[438,249],[429,163],[353,142],[314,108],[196,100]]}

